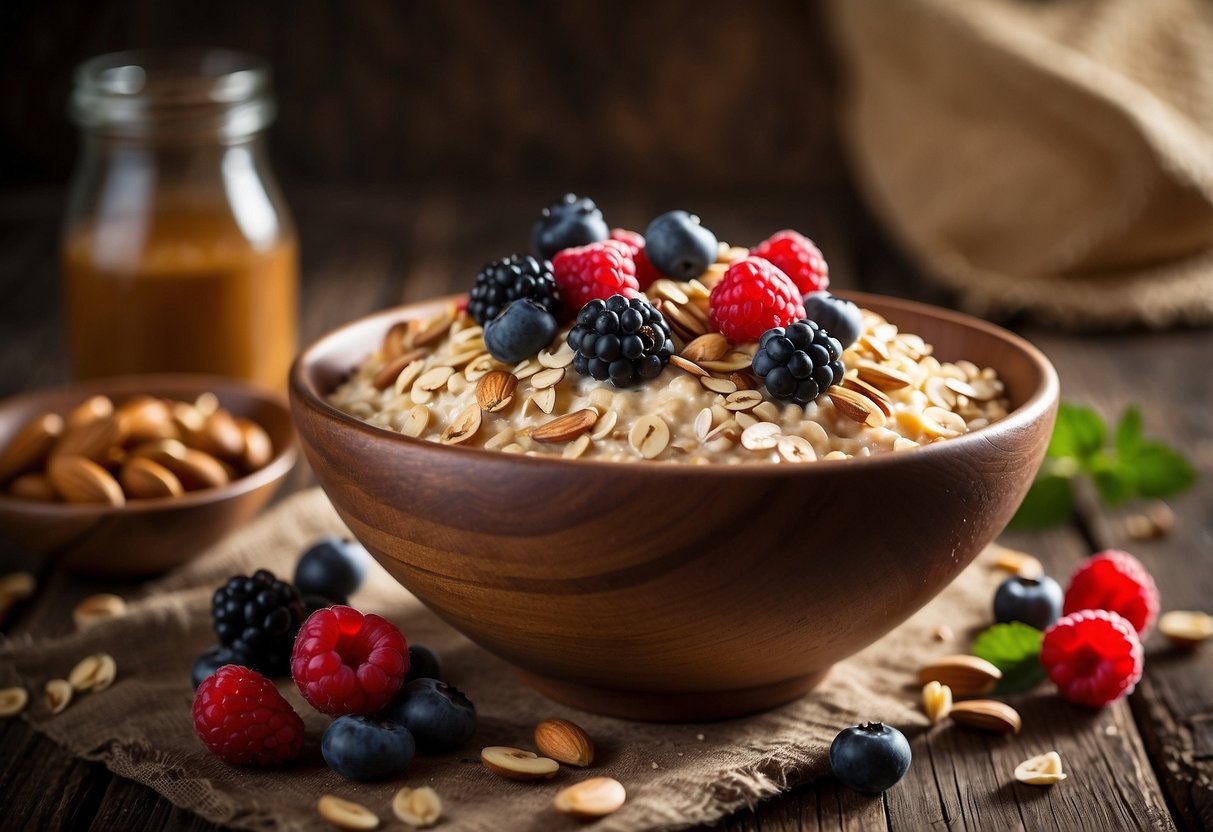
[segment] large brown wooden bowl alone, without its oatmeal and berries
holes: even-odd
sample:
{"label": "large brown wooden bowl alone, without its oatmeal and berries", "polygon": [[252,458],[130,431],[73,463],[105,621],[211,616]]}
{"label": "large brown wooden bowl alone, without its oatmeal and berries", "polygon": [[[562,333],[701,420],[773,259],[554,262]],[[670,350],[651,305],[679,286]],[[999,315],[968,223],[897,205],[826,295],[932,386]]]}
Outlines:
{"label": "large brown wooden bowl alone, without its oatmeal and berries", "polygon": [[548,696],[638,719],[748,713],[813,688],[1002,531],[1048,444],[1057,375],[955,312],[853,300],[995,367],[1013,412],[912,451],[811,465],[526,457],[365,424],[325,401],[395,321],[338,329],[291,370],[301,444],[337,512],[405,587]]}

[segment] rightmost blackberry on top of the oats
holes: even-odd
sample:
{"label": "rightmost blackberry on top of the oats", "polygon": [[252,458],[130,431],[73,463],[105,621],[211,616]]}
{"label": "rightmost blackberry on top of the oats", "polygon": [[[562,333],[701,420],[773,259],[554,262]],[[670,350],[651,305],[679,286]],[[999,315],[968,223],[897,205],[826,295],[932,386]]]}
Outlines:
{"label": "rightmost blackberry on top of the oats", "polygon": [[808,404],[842,382],[842,344],[811,320],[763,332],[753,371],[776,399]]}

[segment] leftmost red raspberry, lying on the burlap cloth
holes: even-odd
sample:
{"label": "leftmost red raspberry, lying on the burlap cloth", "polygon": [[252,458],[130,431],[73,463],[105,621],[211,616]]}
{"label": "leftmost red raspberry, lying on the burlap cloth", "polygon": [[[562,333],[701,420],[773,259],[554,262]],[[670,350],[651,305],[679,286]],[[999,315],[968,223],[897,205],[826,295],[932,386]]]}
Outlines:
{"label": "leftmost red raspberry, lying on the burlap cloth", "polygon": [[228,763],[278,765],[303,750],[303,720],[256,671],[224,665],[198,685],[194,731]]}

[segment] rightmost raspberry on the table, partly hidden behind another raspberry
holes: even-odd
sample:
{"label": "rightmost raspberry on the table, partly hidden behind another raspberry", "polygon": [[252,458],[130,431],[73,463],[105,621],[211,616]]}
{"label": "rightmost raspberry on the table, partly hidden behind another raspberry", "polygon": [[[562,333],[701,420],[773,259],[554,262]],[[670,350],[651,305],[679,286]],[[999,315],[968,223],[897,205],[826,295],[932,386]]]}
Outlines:
{"label": "rightmost raspberry on the table, partly hidden behind another raspberry", "polygon": [[1070,579],[1061,614],[1078,610],[1120,612],[1145,636],[1158,615],[1158,588],[1140,560],[1107,549],[1083,562]]}

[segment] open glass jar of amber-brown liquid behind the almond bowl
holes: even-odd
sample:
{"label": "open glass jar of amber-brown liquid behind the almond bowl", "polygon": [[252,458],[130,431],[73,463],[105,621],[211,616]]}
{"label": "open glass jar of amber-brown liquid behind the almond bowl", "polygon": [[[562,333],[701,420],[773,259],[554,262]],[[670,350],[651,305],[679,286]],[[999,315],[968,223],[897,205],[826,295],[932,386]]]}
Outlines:
{"label": "open glass jar of amber-brown liquid behind the almond bowl", "polygon": [[63,228],[78,377],[211,372],[277,388],[297,244],[266,159],[268,67],[224,50],[103,55],[75,75]]}

